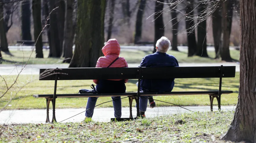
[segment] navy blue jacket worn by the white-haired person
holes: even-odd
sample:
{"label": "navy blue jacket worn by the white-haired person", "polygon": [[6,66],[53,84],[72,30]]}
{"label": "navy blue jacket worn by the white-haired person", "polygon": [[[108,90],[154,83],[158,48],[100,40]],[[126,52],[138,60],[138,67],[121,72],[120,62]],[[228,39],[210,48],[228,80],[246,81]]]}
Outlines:
{"label": "navy blue jacket worn by the white-haired person", "polygon": [[[173,55],[155,52],[146,55],[141,63],[141,67],[178,67],[178,61]],[[155,73],[161,74],[161,73]],[[140,90],[144,92],[167,92],[172,91],[174,79],[142,79],[140,81]]]}

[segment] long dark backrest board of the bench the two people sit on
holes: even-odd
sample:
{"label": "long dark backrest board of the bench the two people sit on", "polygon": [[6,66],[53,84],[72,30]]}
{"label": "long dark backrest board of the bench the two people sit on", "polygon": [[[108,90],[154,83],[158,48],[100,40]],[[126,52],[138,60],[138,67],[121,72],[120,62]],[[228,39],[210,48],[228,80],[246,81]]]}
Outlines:
{"label": "long dark backrest board of the bench the two people sit on", "polygon": [[236,66],[140,68],[40,68],[39,80],[232,78]]}

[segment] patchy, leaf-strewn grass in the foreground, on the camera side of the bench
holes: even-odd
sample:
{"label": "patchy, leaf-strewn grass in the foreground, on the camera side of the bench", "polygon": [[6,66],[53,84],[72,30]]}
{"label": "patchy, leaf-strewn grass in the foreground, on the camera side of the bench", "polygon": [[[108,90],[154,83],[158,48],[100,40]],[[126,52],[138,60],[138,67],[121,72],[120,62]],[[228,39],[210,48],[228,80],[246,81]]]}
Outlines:
{"label": "patchy, leaf-strewn grass in the foreground, on the camera side of the bench", "polygon": [[223,141],[234,112],[199,112],[125,122],[0,125],[0,142],[159,142]]}

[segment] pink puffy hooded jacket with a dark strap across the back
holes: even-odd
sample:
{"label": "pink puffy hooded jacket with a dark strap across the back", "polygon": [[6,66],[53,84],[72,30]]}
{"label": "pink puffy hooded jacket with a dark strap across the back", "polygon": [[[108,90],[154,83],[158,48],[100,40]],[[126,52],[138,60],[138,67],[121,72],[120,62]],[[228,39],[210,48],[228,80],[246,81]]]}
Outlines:
{"label": "pink puffy hooded jacket with a dark strap across the back", "polygon": [[[109,39],[107,44],[102,48],[102,53],[104,57],[99,57],[96,68],[107,68],[111,62],[113,62],[120,54],[120,45],[116,39]],[[116,62],[114,62],[109,68],[123,68],[128,67],[124,57],[120,57]],[[113,79],[114,80],[114,79]],[[116,79],[120,81],[121,79]],[[127,83],[128,79],[124,80]],[[93,80],[94,83],[98,83],[98,80]]]}

